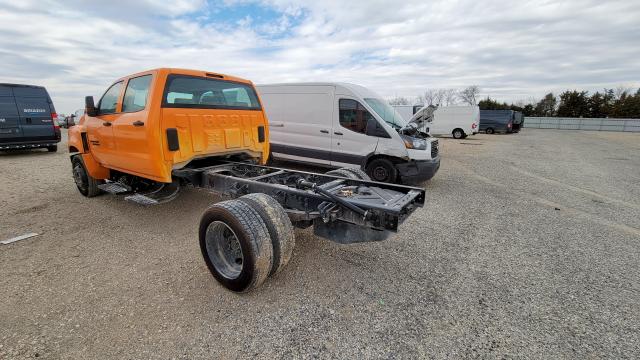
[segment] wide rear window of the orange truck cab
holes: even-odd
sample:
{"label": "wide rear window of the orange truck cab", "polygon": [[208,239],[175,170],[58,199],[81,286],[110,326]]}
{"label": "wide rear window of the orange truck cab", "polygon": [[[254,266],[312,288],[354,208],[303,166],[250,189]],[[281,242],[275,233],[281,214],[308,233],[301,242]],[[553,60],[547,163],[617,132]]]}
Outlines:
{"label": "wide rear window of the orange truck cab", "polygon": [[192,109],[261,109],[256,91],[250,85],[186,75],[169,75],[162,106]]}

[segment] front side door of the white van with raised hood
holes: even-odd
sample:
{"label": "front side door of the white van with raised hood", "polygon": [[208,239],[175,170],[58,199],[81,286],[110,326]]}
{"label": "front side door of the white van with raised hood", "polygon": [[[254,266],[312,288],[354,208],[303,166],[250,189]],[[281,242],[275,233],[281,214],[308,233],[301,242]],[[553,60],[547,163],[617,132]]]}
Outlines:
{"label": "front side door of the white van with raised hood", "polygon": [[338,116],[331,137],[331,165],[360,165],[378,146],[378,138],[366,135],[367,124],[377,122],[357,100],[339,98]]}

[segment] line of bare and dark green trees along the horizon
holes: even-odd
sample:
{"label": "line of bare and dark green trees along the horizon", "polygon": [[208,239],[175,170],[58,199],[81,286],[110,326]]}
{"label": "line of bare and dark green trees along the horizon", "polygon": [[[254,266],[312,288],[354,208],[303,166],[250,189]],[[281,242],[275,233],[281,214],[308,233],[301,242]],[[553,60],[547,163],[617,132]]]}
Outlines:
{"label": "line of bare and dark green trees along the horizon", "polygon": [[480,88],[462,90],[428,89],[413,101],[404,97],[391,99],[392,105],[478,105],[481,110],[515,110],[525,116],[558,116],[584,118],[640,118],[640,88],[635,92],[626,87],[604,89],[602,92],[566,90],[559,96],[548,93],[542,99],[516,103],[498,102],[487,96],[477,101]]}

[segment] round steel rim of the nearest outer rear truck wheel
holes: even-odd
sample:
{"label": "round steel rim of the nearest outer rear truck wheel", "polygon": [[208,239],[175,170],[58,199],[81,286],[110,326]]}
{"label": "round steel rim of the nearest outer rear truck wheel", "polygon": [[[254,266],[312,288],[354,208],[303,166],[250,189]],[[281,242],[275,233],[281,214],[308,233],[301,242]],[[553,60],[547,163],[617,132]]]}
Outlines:
{"label": "round steel rim of the nearest outer rear truck wheel", "polygon": [[216,271],[227,279],[236,279],[242,272],[244,255],[235,232],[222,221],[214,221],[205,234],[207,256]]}

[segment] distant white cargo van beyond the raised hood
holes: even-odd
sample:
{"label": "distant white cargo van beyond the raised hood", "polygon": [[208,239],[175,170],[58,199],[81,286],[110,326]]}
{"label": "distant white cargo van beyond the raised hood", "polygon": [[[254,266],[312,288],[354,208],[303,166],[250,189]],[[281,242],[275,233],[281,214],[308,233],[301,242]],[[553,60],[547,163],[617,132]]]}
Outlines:
{"label": "distant white cargo van beyond the raised hood", "polygon": [[[422,116],[418,110],[410,121]],[[478,133],[480,127],[480,108],[478,106],[443,106],[433,113],[433,121],[427,124],[431,135],[451,135],[456,139],[464,139]]]}

